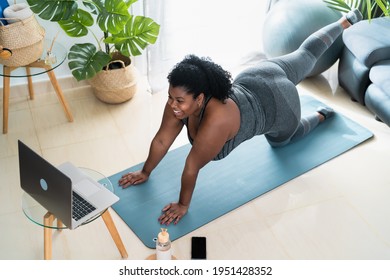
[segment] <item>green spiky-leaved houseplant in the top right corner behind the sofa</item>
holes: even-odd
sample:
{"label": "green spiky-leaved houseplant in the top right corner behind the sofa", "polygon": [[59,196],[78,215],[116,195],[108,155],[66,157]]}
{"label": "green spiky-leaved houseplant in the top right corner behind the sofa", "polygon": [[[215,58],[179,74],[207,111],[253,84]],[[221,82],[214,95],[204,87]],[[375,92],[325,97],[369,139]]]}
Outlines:
{"label": "green spiky-leaved houseplant in the top right corner behind the sofa", "polygon": [[378,16],[389,16],[389,0],[323,0],[328,7],[340,12],[349,12],[358,8],[364,19]]}

